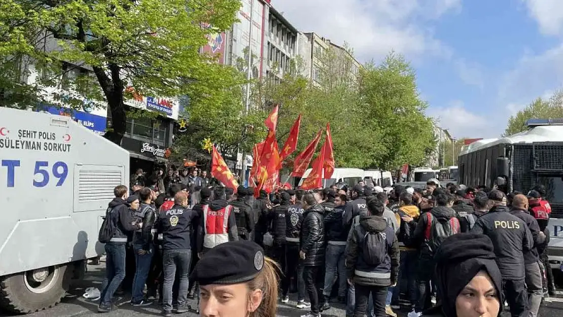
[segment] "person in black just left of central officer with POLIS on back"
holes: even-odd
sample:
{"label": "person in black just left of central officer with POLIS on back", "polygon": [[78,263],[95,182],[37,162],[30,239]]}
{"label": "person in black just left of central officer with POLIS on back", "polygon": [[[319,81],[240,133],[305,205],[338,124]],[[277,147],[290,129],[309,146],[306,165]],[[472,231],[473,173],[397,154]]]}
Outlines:
{"label": "person in black just left of central officer with POLIS on back", "polygon": [[278,262],[282,270],[285,268],[285,231],[286,231],[286,221],[285,213],[289,209],[289,196],[288,193],[280,194],[280,204],[274,207],[270,212],[271,219],[271,230],[270,233],[274,238],[274,244],[272,245],[272,258]]}

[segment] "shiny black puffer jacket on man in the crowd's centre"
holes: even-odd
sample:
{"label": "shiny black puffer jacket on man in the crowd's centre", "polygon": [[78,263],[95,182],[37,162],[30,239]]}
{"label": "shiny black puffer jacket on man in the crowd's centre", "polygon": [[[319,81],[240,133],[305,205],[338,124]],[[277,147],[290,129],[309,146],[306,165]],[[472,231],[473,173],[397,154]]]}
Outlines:
{"label": "shiny black puffer jacket on man in the crowd's centre", "polygon": [[321,266],[325,260],[323,206],[315,204],[303,213],[301,251],[305,252],[305,266]]}

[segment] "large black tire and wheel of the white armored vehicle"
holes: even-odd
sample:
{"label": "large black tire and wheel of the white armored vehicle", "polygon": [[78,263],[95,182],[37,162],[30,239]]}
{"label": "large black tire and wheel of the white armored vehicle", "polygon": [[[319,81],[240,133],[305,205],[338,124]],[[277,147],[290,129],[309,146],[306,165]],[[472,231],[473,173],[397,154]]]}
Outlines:
{"label": "large black tire and wheel of the white armored vehicle", "polygon": [[67,265],[43,267],[0,279],[0,307],[28,314],[57,305],[70,285]]}

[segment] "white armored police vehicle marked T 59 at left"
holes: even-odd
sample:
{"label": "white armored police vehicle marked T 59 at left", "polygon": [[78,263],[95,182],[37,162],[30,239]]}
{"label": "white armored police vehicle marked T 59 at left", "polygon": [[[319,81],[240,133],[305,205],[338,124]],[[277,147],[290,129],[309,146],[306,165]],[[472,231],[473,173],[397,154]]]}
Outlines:
{"label": "white armored police vehicle marked T 59 at left", "polygon": [[129,153],[69,117],[0,107],[0,307],[56,305],[85,261]]}

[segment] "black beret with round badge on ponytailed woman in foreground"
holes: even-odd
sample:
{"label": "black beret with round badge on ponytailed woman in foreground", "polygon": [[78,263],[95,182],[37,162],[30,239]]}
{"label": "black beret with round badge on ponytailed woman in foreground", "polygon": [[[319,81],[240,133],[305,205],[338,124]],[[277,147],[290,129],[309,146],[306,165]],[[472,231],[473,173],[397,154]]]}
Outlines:
{"label": "black beret with round badge on ponytailed woman in foreground", "polygon": [[264,266],[264,250],[260,245],[239,240],[217,245],[194,267],[190,280],[199,285],[238,284],[255,278]]}

